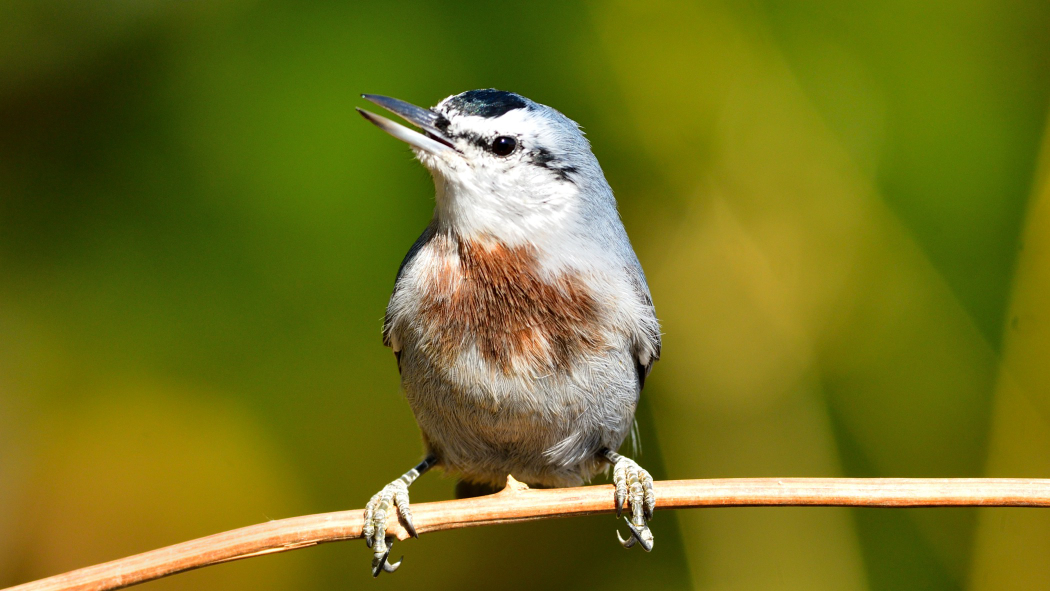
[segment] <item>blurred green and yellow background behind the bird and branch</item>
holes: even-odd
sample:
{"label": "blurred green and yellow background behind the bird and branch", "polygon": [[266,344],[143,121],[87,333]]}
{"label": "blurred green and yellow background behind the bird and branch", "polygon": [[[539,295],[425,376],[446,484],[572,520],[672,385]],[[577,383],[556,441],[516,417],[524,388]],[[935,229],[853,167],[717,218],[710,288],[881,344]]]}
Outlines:
{"label": "blurred green and yellow background behind the bird and branch", "polygon": [[[380,323],[430,181],[355,112],[580,121],[665,331],[660,478],[1050,477],[1050,4],[0,4],[0,586],[361,507],[421,444]],[[446,499],[438,476],[416,502]],[[1050,512],[660,512],[146,589],[1050,587]]]}

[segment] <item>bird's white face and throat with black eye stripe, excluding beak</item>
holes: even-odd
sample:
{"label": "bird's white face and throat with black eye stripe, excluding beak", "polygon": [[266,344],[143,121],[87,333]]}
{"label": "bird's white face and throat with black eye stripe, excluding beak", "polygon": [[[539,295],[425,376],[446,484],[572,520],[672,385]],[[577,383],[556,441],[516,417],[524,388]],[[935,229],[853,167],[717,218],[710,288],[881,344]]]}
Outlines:
{"label": "bird's white face and throat with black eye stripe, excluding beak", "polygon": [[518,244],[578,217],[581,169],[593,155],[575,124],[540,105],[482,117],[446,100],[434,111],[455,149],[414,151],[434,175],[439,224]]}

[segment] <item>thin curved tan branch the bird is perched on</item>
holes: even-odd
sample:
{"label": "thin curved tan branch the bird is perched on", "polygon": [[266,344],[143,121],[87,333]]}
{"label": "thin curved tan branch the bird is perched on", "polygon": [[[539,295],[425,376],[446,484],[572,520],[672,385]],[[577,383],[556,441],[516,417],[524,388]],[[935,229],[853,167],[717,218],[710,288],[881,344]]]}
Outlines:
{"label": "thin curved tan branch the bird is perched on", "polygon": [[[731,479],[657,482],[657,509],[689,507],[1050,507],[1050,480]],[[529,489],[509,481],[488,497],[412,506],[419,533],[614,511],[612,486]],[[36,581],[6,591],[103,591],[191,569],[361,537],[362,510],[234,529]],[[394,518],[391,518],[394,521]],[[408,536],[392,523],[399,540]]]}

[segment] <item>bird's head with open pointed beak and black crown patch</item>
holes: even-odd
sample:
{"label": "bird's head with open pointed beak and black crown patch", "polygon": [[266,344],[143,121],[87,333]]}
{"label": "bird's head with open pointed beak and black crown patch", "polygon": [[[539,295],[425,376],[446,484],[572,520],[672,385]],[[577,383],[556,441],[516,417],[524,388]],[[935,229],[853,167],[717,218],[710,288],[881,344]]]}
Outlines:
{"label": "bird's head with open pointed beak and black crown patch", "polygon": [[[436,223],[507,244],[597,230],[615,202],[580,126],[513,92],[485,89],[425,109],[363,94],[420,131],[358,109],[407,143],[437,187]],[[589,227],[589,228],[588,228]]]}

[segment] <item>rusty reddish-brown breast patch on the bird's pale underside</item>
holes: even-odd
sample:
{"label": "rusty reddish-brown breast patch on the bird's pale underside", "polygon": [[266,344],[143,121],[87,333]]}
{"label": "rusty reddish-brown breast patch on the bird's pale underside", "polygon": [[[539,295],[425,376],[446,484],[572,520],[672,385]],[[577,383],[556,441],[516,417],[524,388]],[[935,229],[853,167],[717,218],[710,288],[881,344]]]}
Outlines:
{"label": "rusty reddish-brown breast patch on the bird's pale underside", "polygon": [[529,247],[452,237],[442,246],[420,313],[446,360],[474,343],[504,373],[554,370],[602,346],[597,304],[575,274],[541,277]]}

